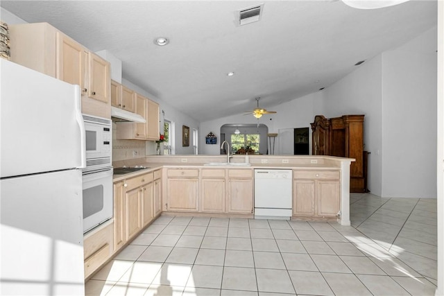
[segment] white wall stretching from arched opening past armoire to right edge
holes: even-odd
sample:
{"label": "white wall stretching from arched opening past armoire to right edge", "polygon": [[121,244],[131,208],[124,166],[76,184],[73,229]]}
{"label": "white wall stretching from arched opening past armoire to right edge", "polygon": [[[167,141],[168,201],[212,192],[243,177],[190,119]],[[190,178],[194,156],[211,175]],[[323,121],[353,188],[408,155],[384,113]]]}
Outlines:
{"label": "white wall stretching from arched opening past armoire to right edge", "polygon": [[[370,191],[382,197],[436,198],[436,34],[432,28],[367,60],[322,92],[265,106],[278,114],[260,122],[278,132],[309,127],[317,114],[364,114]],[[237,114],[200,123],[200,130],[202,137],[210,131],[219,137],[225,123],[253,122],[253,116]],[[200,154],[219,153],[204,139],[200,147]]]}

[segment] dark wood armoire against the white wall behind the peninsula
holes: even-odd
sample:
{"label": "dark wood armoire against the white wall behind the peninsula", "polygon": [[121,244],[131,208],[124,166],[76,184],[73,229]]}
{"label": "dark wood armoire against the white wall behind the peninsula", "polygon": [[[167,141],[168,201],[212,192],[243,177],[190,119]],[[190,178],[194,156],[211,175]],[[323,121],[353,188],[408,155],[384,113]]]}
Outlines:
{"label": "dark wood armoire against the white wall behind the peninsula", "polygon": [[312,154],[356,159],[350,166],[350,192],[368,192],[364,115],[343,115],[332,119],[316,115],[311,130]]}

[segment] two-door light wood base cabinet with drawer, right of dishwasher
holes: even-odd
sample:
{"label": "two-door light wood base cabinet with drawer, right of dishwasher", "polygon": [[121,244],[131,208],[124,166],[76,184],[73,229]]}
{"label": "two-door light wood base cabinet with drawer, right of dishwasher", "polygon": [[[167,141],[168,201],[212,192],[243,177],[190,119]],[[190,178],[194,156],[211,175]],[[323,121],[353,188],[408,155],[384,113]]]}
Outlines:
{"label": "two-door light wood base cabinet with drawer, right of dishwasher", "polygon": [[340,209],[339,171],[293,171],[293,216],[335,217]]}

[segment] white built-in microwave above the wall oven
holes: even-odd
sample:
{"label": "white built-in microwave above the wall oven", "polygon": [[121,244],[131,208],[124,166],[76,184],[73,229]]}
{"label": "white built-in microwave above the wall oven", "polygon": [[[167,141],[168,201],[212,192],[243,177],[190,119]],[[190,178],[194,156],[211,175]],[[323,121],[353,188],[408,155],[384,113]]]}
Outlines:
{"label": "white built-in microwave above the wall oven", "polygon": [[85,123],[86,169],[96,170],[111,166],[112,121],[83,114]]}

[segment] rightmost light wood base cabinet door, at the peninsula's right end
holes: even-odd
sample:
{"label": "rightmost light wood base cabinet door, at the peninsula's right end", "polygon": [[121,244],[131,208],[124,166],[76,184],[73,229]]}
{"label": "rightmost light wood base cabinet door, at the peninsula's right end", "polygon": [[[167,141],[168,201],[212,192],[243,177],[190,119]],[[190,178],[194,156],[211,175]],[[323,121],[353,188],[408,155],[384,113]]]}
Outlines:
{"label": "rightmost light wood base cabinet door, at the peninsula's right end", "polygon": [[318,216],[334,217],[338,214],[340,205],[339,181],[316,181]]}

